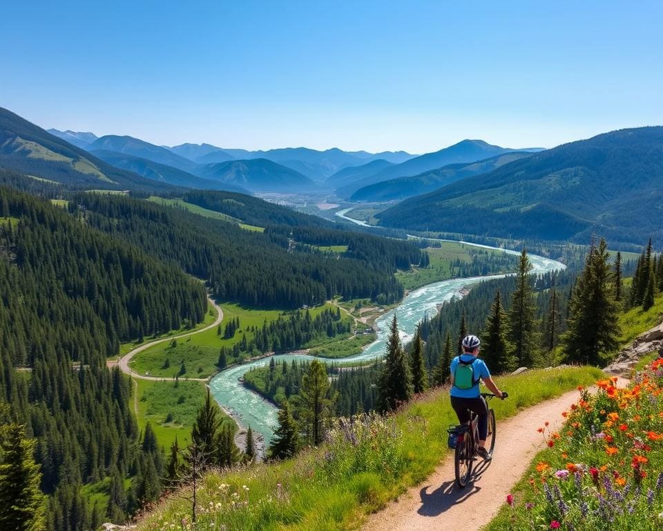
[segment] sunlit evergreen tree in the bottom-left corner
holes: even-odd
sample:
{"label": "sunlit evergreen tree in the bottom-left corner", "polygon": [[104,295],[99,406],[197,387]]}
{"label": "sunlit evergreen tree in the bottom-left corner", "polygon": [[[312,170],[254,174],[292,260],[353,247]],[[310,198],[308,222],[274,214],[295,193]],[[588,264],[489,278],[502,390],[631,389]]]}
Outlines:
{"label": "sunlit evergreen tree in the bottom-left corner", "polygon": [[39,490],[41,474],[32,457],[36,440],[28,440],[23,426],[3,425],[0,431],[0,529],[46,529],[45,497]]}

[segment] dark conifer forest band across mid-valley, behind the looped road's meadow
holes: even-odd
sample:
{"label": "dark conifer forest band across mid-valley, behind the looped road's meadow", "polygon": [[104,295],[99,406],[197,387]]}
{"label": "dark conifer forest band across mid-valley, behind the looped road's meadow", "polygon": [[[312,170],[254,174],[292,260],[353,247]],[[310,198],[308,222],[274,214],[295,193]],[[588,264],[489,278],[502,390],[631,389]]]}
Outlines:
{"label": "dark conifer forest band across mid-valley, behind the looped road's meadow", "polygon": [[[127,197],[78,194],[69,205],[89,225],[208,279],[220,299],[249,306],[297,308],[335,295],[389,304],[403,297],[394,277],[398,265],[421,259],[421,251],[403,241],[387,244],[391,252],[376,259],[379,268],[367,259],[300,252],[291,249],[285,234],[250,232],[235,223]],[[374,256],[373,247],[384,245],[376,236],[367,236],[364,244],[368,256]]]}

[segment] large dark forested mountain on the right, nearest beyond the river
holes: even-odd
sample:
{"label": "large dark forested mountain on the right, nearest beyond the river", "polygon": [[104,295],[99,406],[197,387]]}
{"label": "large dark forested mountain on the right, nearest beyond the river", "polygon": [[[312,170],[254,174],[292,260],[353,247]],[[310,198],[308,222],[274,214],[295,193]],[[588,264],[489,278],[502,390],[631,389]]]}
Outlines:
{"label": "large dark forested mountain on the right, nearest beyond the river", "polygon": [[622,129],[534,153],[376,214],[381,224],[614,243],[663,239],[663,127]]}

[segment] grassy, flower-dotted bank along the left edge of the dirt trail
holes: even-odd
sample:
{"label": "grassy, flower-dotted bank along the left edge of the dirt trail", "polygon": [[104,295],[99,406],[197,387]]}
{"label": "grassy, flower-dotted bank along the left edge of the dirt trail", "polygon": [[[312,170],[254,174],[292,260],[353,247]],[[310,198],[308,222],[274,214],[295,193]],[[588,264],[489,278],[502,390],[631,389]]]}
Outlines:
{"label": "grassy, flower-dotted bank along the left edge of the dirt trail", "polygon": [[[499,378],[510,399],[494,404],[497,418],[591,384],[601,375],[598,369],[581,367]],[[366,425],[354,425],[356,446],[333,431],[326,447],[309,449],[292,460],[208,474],[199,491],[200,507],[206,507],[198,513],[199,525],[273,531],[358,529],[369,512],[434,471],[448,454],[446,429],[455,423],[448,389],[436,389],[387,420],[372,418]],[[182,499],[168,499],[137,529],[177,525],[189,517],[190,507]]]}

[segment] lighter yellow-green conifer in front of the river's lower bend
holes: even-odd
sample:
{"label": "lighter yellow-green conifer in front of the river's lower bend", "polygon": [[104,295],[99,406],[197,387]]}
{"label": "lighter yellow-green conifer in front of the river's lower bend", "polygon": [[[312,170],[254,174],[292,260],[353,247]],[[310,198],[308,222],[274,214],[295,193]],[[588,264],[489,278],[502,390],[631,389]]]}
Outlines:
{"label": "lighter yellow-green conifer in front of the river's lower bend", "polygon": [[295,397],[298,417],[302,420],[309,443],[317,446],[323,442],[323,422],[331,413],[334,398],[329,397],[329,380],[325,366],[312,361],[302,376],[299,394]]}

